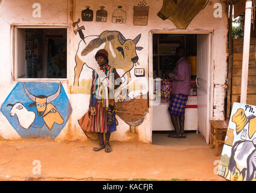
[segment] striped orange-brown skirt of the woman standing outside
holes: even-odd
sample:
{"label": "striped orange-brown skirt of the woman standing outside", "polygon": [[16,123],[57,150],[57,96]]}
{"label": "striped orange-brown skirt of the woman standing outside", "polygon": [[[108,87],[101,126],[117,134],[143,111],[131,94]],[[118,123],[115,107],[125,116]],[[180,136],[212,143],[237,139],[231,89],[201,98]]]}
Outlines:
{"label": "striped orange-brown skirt of the woman standing outside", "polygon": [[95,107],[96,115],[91,116],[91,131],[96,133],[112,133],[117,130],[117,124],[114,122],[112,125],[107,125],[107,112],[102,106],[102,101],[93,98],[92,106]]}

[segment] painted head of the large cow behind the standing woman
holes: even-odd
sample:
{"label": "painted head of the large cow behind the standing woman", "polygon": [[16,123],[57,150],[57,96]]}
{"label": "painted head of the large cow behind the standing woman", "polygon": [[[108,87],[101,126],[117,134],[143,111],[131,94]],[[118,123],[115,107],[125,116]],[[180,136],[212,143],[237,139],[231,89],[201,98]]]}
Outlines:
{"label": "painted head of the large cow behind the standing woman", "polygon": [[137,47],[136,44],[141,39],[141,34],[135,37],[134,40],[125,39],[121,34],[118,34],[118,40],[121,43],[121,46],[117,48],[119,52],[123,55],[123,59],[129,58],[133,63],[138,62],[138,55],[136,54],[136,50],[143,49],[142,47]]}

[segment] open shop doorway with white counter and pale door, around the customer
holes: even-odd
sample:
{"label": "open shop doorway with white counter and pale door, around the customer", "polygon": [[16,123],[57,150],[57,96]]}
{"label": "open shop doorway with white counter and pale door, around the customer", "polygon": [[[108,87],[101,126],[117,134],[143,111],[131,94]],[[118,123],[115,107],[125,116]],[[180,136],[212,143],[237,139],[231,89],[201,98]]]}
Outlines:
{"label": "open shop doorway with white counter and pale door, around the customer", "polygon": [[[186,139],[168,138],[174,131],[168,112],[168,91],[170,79],[165,72],[173,72],[178,61],[176,48],[185,49],[191,64],[191,88],[185,109],[184,130]],[[153,105],[152,144],[187,145],[209,143],[211,106],[211,36],[210,34],[153,34],[153,78],[161,78],[161,102]],[[165,88],[164,88],[165,87]],[[155,89],[154,89],[155,90]],[[164,144],[163,144],[164,143]],[[182,142],[181,142],[182,145]]]}

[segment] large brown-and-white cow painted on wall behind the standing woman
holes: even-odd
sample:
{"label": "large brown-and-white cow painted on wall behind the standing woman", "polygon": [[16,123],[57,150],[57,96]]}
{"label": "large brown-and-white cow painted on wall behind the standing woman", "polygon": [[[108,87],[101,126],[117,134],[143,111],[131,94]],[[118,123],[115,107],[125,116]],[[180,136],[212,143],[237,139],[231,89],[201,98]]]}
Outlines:
{"label": "large brown-and-white cow painted on wall behind the standing woman", "polygon": [[[98,49],[106,49],[109,53],[109,65],[115,69],[123,70],[124,75],[130,78],[130,70],[138,62],[139,57],[136,50],[140,51],[142,47],[136,46],[141,38],[139,34],[135,39],[126,39],[119,31],[103,31],[100,36],[87,36],[85,42],[80,41],[77,54],[75,55],[75,78],[74,86],[79,86],[79,77],[86,64],[88,68],[95,69],[97,62],[94,55]],[[89,62],[92,61],[92,62]]]}

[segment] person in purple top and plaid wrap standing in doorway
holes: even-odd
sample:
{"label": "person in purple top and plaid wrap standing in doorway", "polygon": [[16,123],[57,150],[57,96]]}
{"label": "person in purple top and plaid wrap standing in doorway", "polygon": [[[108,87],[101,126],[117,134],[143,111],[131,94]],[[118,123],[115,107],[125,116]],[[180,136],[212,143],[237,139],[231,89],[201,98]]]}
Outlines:
{"label": "person in purple top and plaid wrap standing in doorway", "polygon": [[185,107],[190,93],[191,65],[185,59],[185,49],[176,49],[178,62],[173,73],[167,74],[171,78],[171,98],[168,111],[170,112],[171,122],[175,129],[174,133],[168,134],[169,138],[186,138],[184,133]]}

